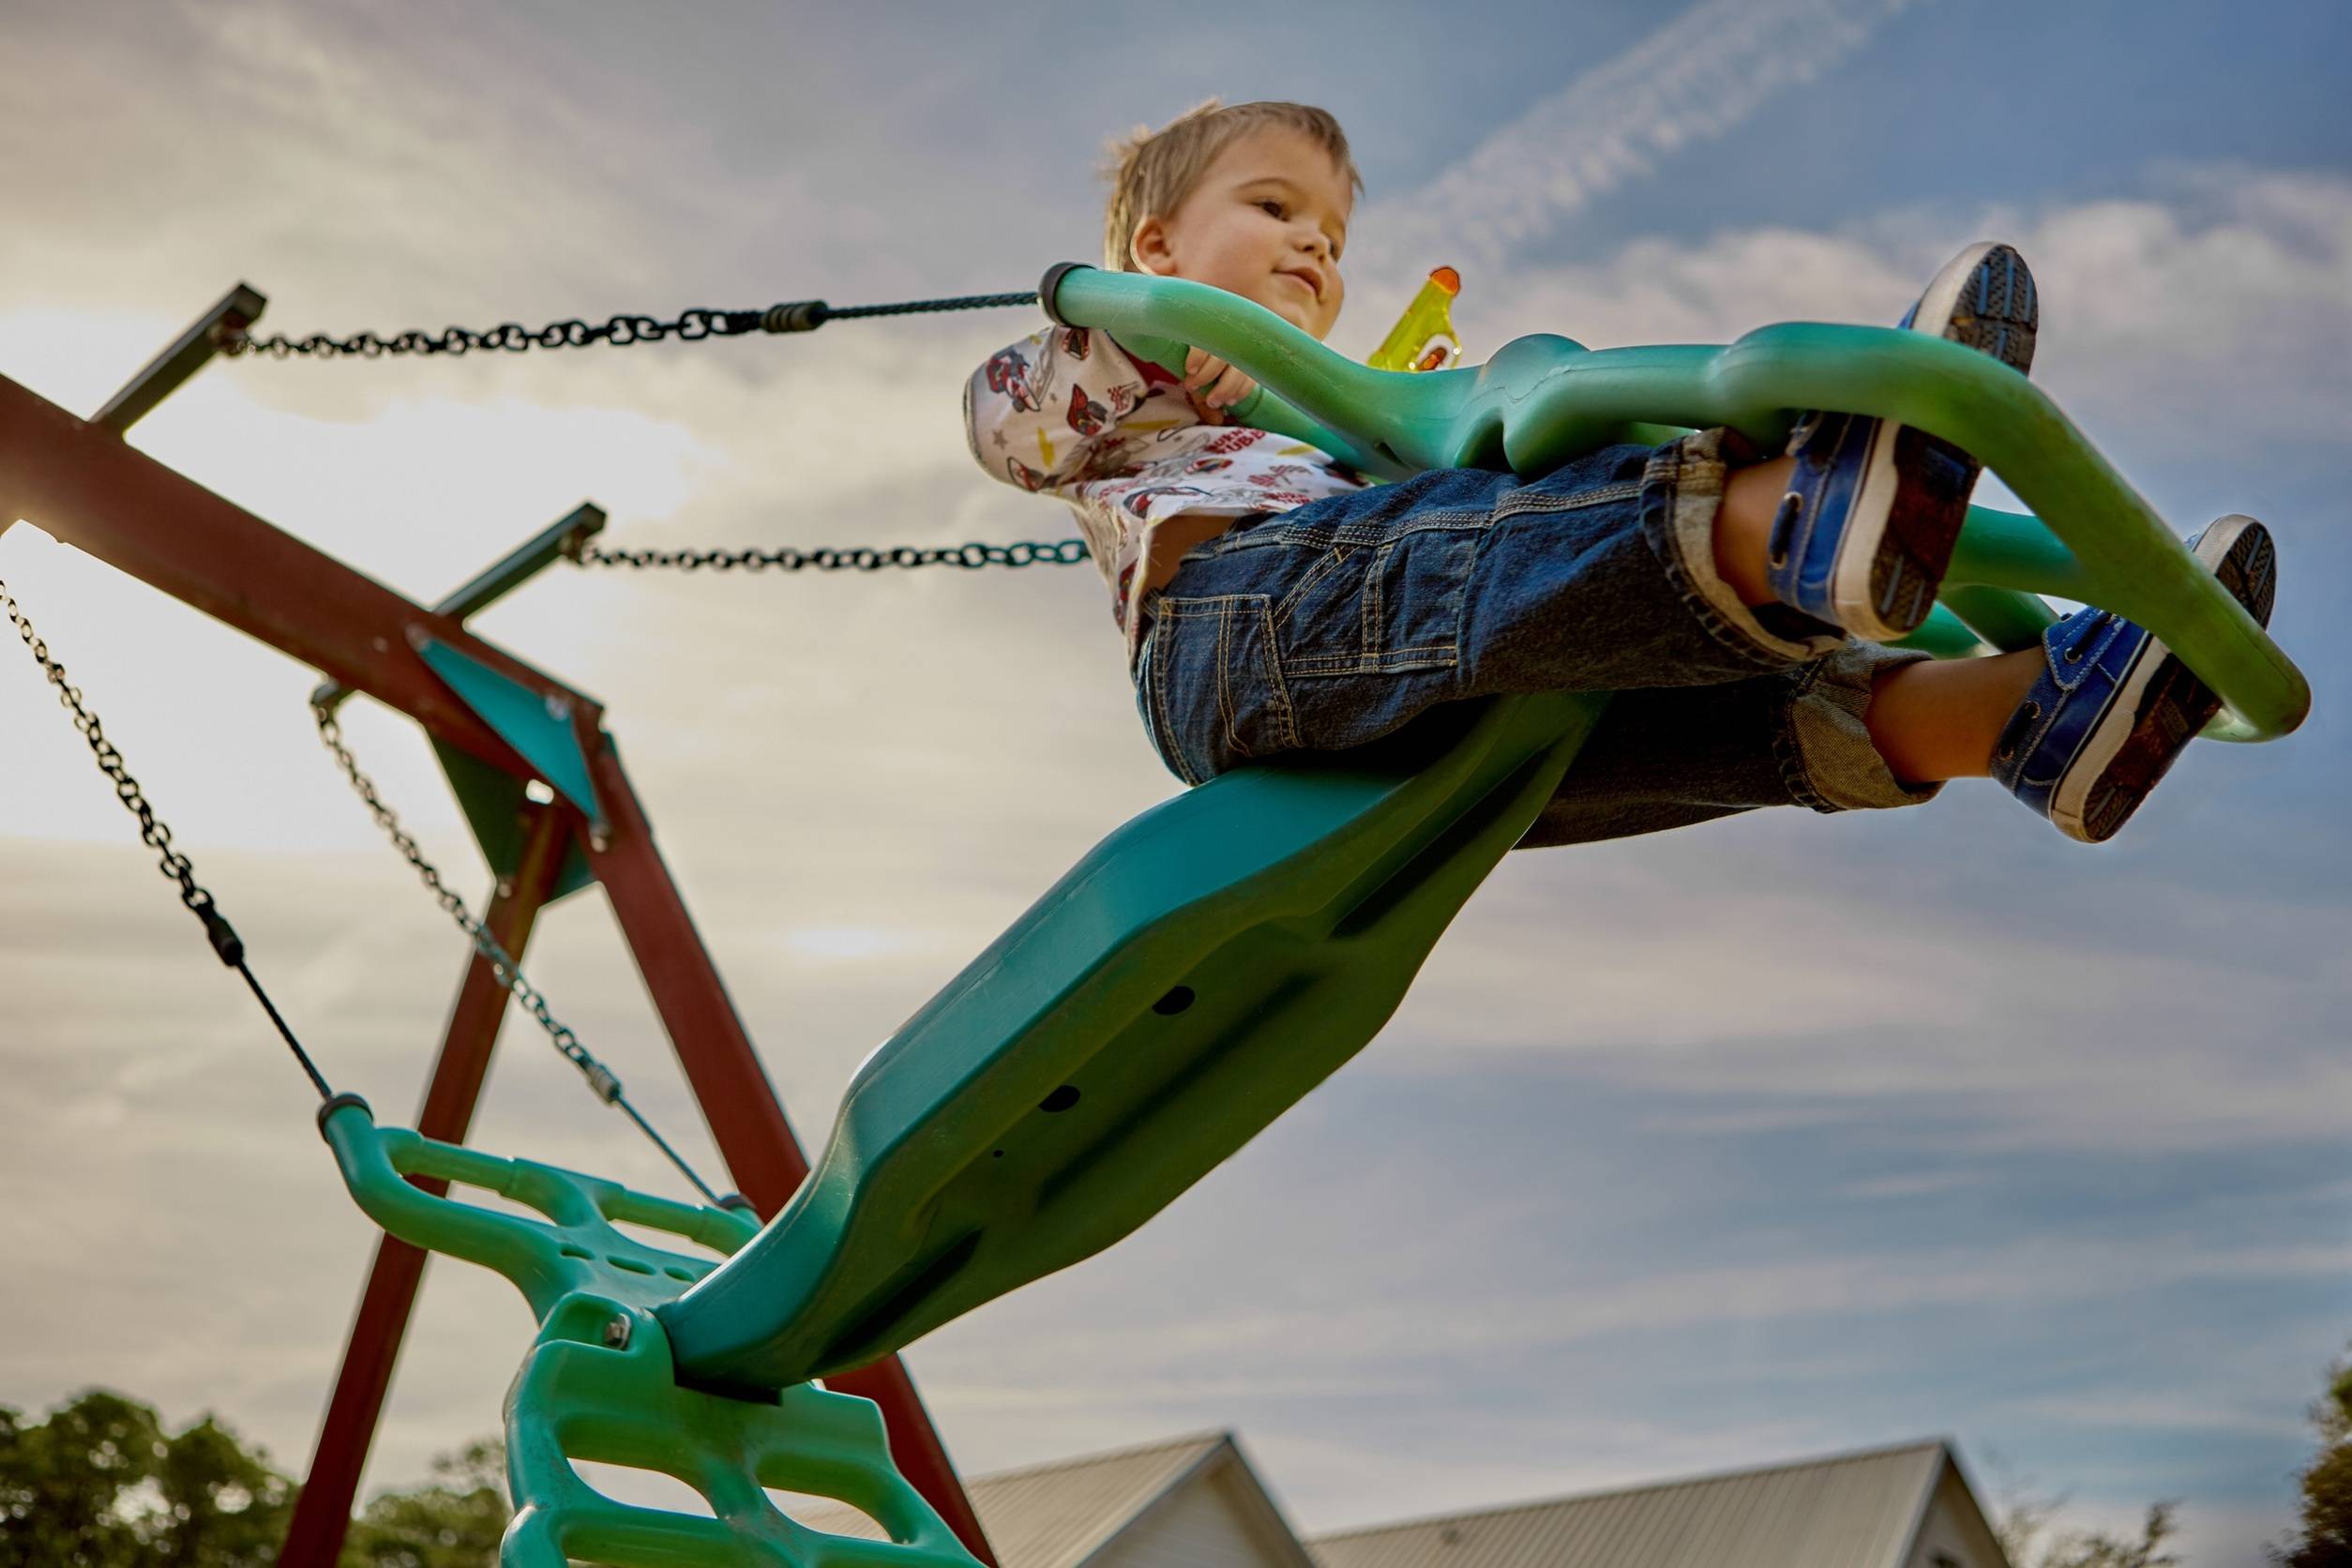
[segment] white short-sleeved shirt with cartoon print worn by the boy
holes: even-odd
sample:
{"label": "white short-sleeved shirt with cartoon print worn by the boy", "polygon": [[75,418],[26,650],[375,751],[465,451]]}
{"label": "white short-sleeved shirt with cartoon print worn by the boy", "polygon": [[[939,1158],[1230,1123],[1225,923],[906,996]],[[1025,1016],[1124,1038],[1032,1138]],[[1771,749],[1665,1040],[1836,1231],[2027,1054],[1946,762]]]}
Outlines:
{"label": "white short-sleeved shirt with cartoon print worn by the boy", "polygon": [[1204,425],[1181,378],[1087,327],[1047,327],[993,355],[964,386],[964,421],[971,451],[990,454],[988,473],[1077,512],[1129,668],[1150,630],[1145,597],[1174,576],[1185,548],[1216,536],[1188,524],[1162,538],[1162,522],[1197,517],[1221,529],[1364,487],[1287,435]]}

